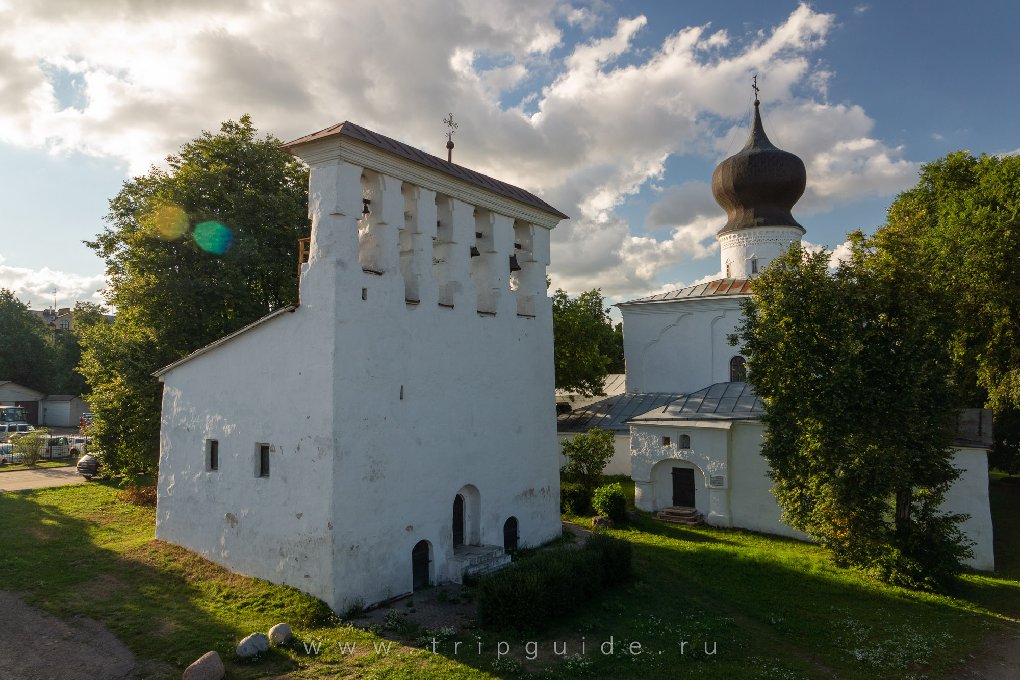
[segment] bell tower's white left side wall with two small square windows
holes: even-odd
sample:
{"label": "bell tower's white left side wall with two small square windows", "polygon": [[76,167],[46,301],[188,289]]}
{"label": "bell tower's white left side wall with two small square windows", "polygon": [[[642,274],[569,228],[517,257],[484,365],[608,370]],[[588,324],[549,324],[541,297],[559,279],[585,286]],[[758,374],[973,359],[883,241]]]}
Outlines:
{"label": "bell tower's white left side wall with two small square windows", "polygon": [[[284,313],[164,377],[156,538],[328,602],[334,442],[321,367],[333,348],[317,321]],[[268,479],[259,444],[270,447]]]}

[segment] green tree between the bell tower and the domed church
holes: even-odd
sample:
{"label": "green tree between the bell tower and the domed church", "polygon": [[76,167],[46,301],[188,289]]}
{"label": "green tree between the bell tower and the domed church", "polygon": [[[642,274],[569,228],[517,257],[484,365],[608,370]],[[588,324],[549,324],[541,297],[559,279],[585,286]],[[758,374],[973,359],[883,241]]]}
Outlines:
{"label": "green tree between the bell tower and the domed church", "polygon": [[623,325],[617,338],[602,289],[573,298],[562,288],[553,294],[553,346],[556,388],[584,396],[604,396],[610,369],[623,370]]}

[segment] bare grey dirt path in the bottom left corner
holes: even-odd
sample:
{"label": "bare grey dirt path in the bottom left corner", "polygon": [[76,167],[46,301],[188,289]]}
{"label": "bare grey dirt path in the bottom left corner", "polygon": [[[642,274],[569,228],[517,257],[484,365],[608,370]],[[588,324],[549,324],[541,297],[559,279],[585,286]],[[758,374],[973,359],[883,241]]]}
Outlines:
{"label": "bare grey dirt path in the bottom left corner", "polygon": [[81,617],[61,621],[3,590],[0,631],[6,631],[0,635],[0,680],[114,680],[134,675],[134,654],[99,624]]}

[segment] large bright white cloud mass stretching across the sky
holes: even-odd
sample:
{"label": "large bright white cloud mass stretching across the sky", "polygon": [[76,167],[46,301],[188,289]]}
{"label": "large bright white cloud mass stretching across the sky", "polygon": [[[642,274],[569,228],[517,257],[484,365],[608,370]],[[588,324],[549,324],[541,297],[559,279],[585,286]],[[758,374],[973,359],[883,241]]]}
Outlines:
{"label": "large bright white cloud mass stretching across the sky", "polygon": [[[752,75],[767,75],[773,142],[808,166],[801,211],[915,181],[917,163],[870,137],[863,109],[824,100],[833,75],[814,53],[834,15],[801,4],[748,37],[687,27],[636,50],[646,17],[610,11],[558,0],[0,4],[0,140],[124,159],[138,174],[247,111],[286,139],[351,119],[444,154],[452,110],[458,162],[573,217],[554,232],[554,278],[624,296],[715,252],[723,215],[704,191],[685,206],[681,189],[664,190],[654,236],[615,209],[661,180],[671,156],[721,159],[747,134],[732,123]],[[563,58],[553,57],[558,21],[590,32]],[[509,91],[521,103],[503,103]]]}

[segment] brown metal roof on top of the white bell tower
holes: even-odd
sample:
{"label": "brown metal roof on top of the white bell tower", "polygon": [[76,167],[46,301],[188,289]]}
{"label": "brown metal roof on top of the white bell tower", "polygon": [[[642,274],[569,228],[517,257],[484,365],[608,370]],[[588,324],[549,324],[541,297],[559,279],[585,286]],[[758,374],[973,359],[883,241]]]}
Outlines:
{"label": "brown metal roof on top of the white bell tower", "polygon": [[512,198],[515,201],[520,201],[526,205],[537,207],[540,210],[555,214],[563,220],[568,218],[567,215],[563,214],[546,201],[519,187],[507,184],[506,182],[500,182],[499,180],[494,180],[488,175],[475,173],[474,171],[458,165],[457,163],[451,163],[447,160],[443,160],[439,156],[434,156],[432,154],[425,153],[420,149],[415,149],[413,146],[408,146],[403,142],[398,142],[397,140],[387,137],[386,135],[380,135],[376,132],[372,132],[371,130],[362,128],[361,126],[356,126],[350,120],[345,120],[344,123],[330,126],[325,130],[320,130],[317,133],[312,133],[311,135],[305,135],[300,139],[284,144],[279,148],[288,153],[294,154],[294,147],[299,144],[325,139],[327,137],[333,137],[334,135],[346,135],[352,139],[371,144],[372,146],[382,149],[384,151],[389,151],[390,153],[395,153],[398,156],[407,158],[408,160],[413,160],[414,162],[420,163],[426,167],[431,167],[432,169],[441,173],[446,173],[447,175],[464,180],[465,182],[469,182],[484,189],[489,189],[490,191],[506,196],[507,198]]}

